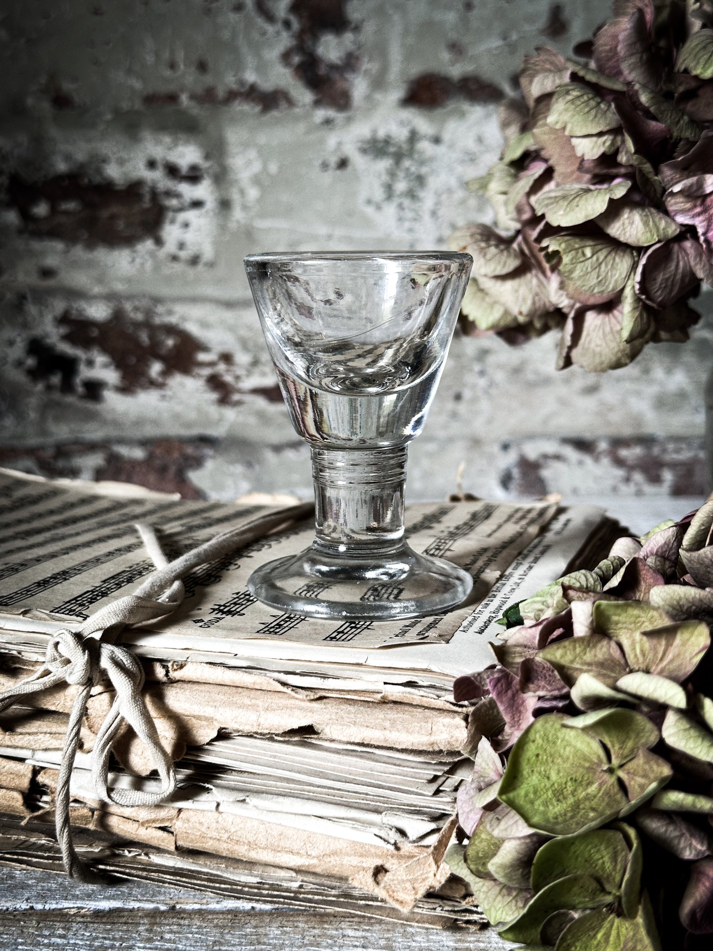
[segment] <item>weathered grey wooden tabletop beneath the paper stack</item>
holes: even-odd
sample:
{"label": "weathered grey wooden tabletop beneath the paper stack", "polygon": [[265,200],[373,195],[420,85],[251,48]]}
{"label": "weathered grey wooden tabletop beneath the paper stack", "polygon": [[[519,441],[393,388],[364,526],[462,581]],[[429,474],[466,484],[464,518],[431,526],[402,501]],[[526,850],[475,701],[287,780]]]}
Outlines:
{"label": "weathered grey wooden tabletop beneath the paper stack", "polygon": [[[271,910],[145,883],[81,885],[0,868],[0,948],[12,951],[499,951],[493,932]],[[511,946],[511,945],[510,945]]]}

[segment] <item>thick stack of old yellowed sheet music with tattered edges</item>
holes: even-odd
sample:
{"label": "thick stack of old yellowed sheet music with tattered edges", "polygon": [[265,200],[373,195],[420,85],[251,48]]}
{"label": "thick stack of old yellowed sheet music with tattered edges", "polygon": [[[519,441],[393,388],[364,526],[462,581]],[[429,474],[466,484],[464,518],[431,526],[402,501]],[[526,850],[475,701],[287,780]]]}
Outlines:
{"label": "thick stack of old yellowed sheet music with tattered edges", "polygon": [[[36,666],[54,631],[150,573],[133,522],[154,524],[177,556],[260,511],[0,473],[0,689]],[[313,621],[255,601],[249,574],[306,547],[309,521],[189,575],[179,611],[123,636],[145,664],[179,787],[155,807],[98,801],[89,750],[112,694],[96,687],[72,774],[80,851],[117,875],[251,901],[480,924],[443,862],[478,739],[453,679],[492,663],[505,607],[596,560],[615,528],[598,509],[551,501],[414,505],[414,549],[475,583],[468,606],[406,622]],[[48,823],[71,700],[56,688],[0,715],[1,862],[59,867]],[[128,731],[115,754],[110,785],[156,786]]]}

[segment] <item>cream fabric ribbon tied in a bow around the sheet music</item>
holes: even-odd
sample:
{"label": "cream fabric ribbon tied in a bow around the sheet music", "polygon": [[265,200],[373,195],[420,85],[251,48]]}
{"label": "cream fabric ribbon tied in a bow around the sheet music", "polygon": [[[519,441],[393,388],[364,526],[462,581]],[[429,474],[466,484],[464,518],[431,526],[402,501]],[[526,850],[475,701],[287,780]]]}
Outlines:
{"label": "cream fabric ribbon tied in a bow around the sheet music", "polygon": [[[45,662],[31,676],[0,693],[0,712],[24,697],[56,687],[63,681],[77,691],[69,713],[62,763],[55,797],[55,828],[67,873],[81,882],[96,881],[95,874],[77,855],[69,825],[69,784],[79,747],[80,731],[91,689],[105,676],[115,691],[114,702],[99,729],[91,754],[91,776],[99,797],[115,805],[158,805],[176,787],[173,761],[161,745],[156,725],[146,707],[142,688],[144,668],[126,647],[114,643],[125,627],[165,617],[183,602],[182,578],[222,555],[244,548],[265,534],[298,521],[314,511],[311,502],[260,515],[244,525],[216,535],[198,548],[168,561],[150,525],[137,523],[145,549],[156,566],[133,594],[117,598],[87,617],[78,631],[58,631],[48,643]],[[161,777],[157,792],[109,789],[109,754],[124,722],[134,729],[147,748]]]}

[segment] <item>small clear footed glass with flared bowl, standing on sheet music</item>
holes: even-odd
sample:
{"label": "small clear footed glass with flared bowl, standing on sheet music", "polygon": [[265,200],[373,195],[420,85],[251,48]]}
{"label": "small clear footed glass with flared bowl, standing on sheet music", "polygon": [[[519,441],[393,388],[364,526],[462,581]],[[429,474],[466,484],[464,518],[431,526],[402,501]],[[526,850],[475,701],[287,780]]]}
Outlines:
{"label": "small clear footed glass with flared bowl, standing on sheet music", "polygon": [[446,611],[472,577],[404,539],[408,443],[421,432],[472,258],[258,254],[245,269],[293,425],[312,451],[316,537],[254,572],[280,611],[393,620]]}

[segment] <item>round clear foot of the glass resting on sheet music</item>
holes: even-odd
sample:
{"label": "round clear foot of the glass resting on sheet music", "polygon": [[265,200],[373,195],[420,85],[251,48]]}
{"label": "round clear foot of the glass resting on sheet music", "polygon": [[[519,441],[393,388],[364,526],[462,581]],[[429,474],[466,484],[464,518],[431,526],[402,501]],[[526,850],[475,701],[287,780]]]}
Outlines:
{"label": "round clear foot of the glass resting on sheet music", "polygon": [[472,576],[405,543],[388,553],[335,555],[316,542],[262,565],[247,587],[279,611],[326,620],[393,621],[457,607],[471,592]]}

